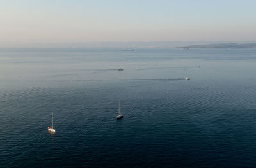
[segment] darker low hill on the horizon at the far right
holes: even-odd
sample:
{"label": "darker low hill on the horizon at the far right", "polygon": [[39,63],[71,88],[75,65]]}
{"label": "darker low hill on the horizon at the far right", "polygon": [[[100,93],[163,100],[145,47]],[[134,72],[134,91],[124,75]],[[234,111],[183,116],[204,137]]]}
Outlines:
{"label": "darker low hill on the horizon at the far right", "polygon": [[256,43],[218,43],[209,45],[189,45],[179,48],[256,48]]}

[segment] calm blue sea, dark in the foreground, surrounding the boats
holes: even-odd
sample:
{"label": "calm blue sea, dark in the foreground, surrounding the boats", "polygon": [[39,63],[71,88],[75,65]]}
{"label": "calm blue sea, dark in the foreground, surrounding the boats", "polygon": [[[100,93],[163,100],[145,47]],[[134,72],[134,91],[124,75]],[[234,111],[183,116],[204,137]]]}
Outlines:
{"label": "calm blue sea, dark in the foreground, surrounding the boats", "polygon": [[0,167],[255,167],[255,63],[255,49],[1,49]]}

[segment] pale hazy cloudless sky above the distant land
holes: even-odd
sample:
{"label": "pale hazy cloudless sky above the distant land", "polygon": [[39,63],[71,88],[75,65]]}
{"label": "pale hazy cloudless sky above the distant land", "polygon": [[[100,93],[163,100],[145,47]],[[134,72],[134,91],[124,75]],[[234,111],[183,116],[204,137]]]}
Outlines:
{"label": "pale hazy cloudless sky above the distant land", "polygon": [[255,0],[0,0],[0,43],[255,39]]}

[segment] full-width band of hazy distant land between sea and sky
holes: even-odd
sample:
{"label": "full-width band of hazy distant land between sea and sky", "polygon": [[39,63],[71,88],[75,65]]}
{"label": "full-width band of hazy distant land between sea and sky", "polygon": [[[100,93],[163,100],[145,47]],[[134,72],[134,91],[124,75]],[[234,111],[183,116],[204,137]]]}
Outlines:
{"label": "full-width band of hazy distant land between sea and sky", "polygon": [[0,48],[256,48],[256,41],[88,41],[81,43],[0,43]]}

